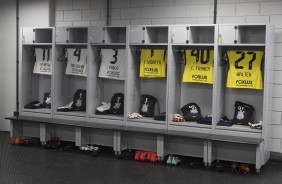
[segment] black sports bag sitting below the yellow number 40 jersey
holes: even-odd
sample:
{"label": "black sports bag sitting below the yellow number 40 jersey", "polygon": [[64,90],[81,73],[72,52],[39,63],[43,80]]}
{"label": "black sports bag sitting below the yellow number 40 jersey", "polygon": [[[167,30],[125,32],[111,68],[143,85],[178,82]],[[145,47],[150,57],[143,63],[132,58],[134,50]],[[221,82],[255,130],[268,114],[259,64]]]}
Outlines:
{"label": "black sports bag sitting below the yellow number 40 jersey", "polygon": [[199,105],[194,102],[184,105],[180,110],[186,121],[199,121],[203,117]]}

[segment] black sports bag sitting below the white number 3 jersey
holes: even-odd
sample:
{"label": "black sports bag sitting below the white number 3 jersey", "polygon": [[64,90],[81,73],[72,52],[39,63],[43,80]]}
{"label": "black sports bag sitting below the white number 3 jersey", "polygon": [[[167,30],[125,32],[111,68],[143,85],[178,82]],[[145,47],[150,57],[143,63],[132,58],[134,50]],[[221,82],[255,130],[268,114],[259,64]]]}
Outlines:
{"label": "black sports bag sitting below the white number 3 jersey", "polygon": [[112,114],[123,114],[124,111],[124,94],[115,93],[111,99],[110,112]]}

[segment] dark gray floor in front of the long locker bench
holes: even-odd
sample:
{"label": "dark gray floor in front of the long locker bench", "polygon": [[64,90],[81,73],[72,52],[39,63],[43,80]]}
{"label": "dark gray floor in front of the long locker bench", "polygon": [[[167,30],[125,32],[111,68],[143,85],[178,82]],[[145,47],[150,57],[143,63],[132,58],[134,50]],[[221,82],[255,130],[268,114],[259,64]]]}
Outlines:
{"label": "dark gray floor in front of the long locker bench", "polygon": [[0,184],[281,184],[282,163],[268,162],[259,175],[215,172],[118,159],[112,154],[93,157],[74,151],[9,144],[0,132]]}

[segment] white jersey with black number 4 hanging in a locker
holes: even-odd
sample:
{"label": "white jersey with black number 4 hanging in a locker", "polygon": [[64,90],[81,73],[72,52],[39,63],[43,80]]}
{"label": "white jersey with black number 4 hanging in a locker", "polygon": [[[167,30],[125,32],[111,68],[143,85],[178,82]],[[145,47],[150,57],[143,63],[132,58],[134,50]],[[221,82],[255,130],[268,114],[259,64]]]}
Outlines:
{"label": "white jersey with black number 4 hanging in a locker", "polygon": [[87,76],[87,49],[67,49],[67,75]]}

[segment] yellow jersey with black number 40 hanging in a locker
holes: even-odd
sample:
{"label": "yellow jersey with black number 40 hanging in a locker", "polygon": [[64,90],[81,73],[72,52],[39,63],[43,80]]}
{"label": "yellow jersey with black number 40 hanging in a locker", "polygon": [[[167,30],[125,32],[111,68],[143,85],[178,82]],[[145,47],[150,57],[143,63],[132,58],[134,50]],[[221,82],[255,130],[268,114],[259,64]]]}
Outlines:
{"label": "yellow jersey with black number 40 hanging in a locker", "polygon": [[185,51],[186,65],[182,82],[213,83],[213,56],[210,49],[189,49]]}

